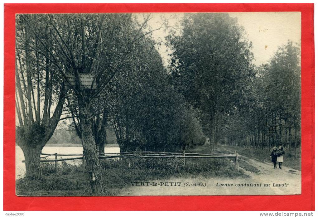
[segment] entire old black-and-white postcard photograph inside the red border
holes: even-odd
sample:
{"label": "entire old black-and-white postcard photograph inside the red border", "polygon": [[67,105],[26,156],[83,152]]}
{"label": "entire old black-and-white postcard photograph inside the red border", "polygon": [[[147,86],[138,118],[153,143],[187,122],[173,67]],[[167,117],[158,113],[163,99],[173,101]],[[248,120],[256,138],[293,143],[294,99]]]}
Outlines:
{"label": "entire old black-and-white postcard photograph inside the red border", "polygon": [[301,194],[301,12],[15,22],[17,196]]}

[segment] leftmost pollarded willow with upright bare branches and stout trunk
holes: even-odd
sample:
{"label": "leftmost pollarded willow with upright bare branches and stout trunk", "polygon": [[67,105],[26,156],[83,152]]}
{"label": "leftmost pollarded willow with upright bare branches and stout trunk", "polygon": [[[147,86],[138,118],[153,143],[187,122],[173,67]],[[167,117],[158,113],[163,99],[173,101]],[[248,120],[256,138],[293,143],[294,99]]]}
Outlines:
{"label": "leftmost pollarded willow with upright bare branches and stout trunk", "polygon": [[[34,23],[37,15],[30,15]],[[32,31],[35,26],[16,18],[16,143],[24,153],[26,178],[40,177],[40,153],[62,114],[67,90],[49,50]],[[47,28],[45,28],[47,30]]]}

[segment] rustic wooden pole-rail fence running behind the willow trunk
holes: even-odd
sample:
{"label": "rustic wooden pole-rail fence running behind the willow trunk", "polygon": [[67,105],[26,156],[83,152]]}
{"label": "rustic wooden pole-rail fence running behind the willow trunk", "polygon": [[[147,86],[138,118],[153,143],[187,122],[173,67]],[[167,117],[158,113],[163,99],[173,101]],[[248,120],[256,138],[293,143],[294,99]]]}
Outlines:
{"label": "rustic wooden pole-rail fence running behind the willow trunk", "polygon": [[[45,154],[41,153],[41,155],[45,155],[44,157],[40,157],[40,162],[55,162],[55,167],[57,167],[58,161],[67,161],[67,160],[83,160],[83,170],[85,169],[85,154]],[[42,159],[49,156],[55,156],[55,159]],[[80,157],[68,157],[68,158],[61,158],[57,159],[58,156],[80,156]],[[185,160],[187,158],[234,158],[234,168],[236,170],[239,169],[239,154],[235,151],[235,154],[229,153],[209,153],[209,154],[202,154],[202,153],[191,153],[191,152],[156,152],[156,151],[129,151],[129,152],[122,152],[122,153],[102,153],[99,154],[100,159],[106,158],[131,158],[131,157],[139,157],[139,158],[183,158],[183,165],[185,165]],[[25,163],[25,160],[22,161]]]}

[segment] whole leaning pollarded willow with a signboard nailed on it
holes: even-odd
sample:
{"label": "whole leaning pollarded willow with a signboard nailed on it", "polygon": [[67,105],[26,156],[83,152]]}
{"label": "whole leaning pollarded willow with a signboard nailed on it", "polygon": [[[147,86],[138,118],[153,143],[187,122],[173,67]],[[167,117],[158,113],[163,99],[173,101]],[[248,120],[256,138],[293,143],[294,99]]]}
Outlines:
{"label": "whole leaning pollarded willow with a signboard nailed on it", "polygon": [[[49,53],[45,57],[59,68],[61,77],[74,92],[91,191],[102,193],[92,131],[96,115],[91,111],[92,103],[114,75],[122,72],[124,60],[132,58],[130,52],[135,45],[151,32],[144,31],[151,15],[141,24],[132,14],[41,14],[36,20],[31,15],[22,17],[27,25],[33,26],[36,39]],[[47,32],[50,34],[45,37]],[[91,76],[89,83],[82,83],[81,77],[85,75]]]}

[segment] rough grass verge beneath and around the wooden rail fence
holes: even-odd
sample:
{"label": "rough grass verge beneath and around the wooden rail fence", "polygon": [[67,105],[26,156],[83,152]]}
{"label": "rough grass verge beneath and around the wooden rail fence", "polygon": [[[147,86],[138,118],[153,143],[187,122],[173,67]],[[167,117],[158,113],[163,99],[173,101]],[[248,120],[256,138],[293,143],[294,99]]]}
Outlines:
{"label": "rough grass verge beneath and around the wooden rail fence", "polygon": [[[116,196],[130,182],[167,180],[169,178],[248,178],[242,171],[223,158],[183,159],[178,158],[124,158],[101,160],[104,194]],[[129,168],[128,168],[128,165]],[[16,181],[16,193],[20,196],[94,196],[90,193],[87,171],[81,165],[42,164],[42,177],[38,180],[21,178]]]}

